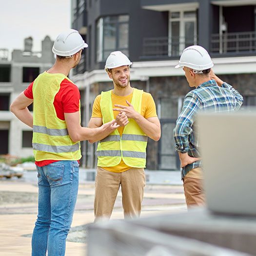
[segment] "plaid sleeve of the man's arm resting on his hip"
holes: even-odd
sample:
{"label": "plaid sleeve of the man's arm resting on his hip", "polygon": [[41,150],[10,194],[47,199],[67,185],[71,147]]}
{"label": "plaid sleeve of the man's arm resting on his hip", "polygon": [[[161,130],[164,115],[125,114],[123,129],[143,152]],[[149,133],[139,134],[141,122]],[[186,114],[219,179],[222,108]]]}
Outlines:
{"label": "plaid sleeve of the man's arm resting on his hip", "polygon": [[174,128],[175,148],[180,153],[186,153],[189,150],[188,136],[192,133],[191,127],[199,109],[200,102],[196,94],[188,93],[184,98],[183,108]]}

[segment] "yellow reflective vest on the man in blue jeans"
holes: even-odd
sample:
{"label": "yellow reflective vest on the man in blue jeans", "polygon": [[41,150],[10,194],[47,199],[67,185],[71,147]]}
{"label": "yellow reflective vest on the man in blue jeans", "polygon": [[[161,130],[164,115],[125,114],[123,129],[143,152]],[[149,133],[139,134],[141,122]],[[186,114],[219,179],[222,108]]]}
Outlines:
{"label": "yellow reflective vest on the man in blue jeans", "polygon": [[32,145],[36,161],[81,158],[80,143],[69,137],[66,122],[57,117],[53,104],[63,79],[68,78],[44,72],[33,83]]}

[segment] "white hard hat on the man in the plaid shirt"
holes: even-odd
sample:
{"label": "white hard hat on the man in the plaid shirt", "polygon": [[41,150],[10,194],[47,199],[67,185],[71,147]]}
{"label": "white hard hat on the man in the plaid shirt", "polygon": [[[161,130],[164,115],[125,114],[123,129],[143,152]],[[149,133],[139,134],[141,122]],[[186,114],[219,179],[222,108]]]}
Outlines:
{"label": "white hard hat on the man in the plaid shirt", "polygon": [[209,53],[202,46],[192,45],[183,50],[175,68],[188,67],[196,71],[202,71],[213,66],[214,63]]}

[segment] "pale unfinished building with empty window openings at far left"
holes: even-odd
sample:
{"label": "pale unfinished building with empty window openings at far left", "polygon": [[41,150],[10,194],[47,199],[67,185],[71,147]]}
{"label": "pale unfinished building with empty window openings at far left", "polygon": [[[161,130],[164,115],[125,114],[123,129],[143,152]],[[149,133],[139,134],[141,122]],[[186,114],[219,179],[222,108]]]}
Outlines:
{"label": "pale unfinished building with empty window openings at far left", "polygon": [[[0,49],[0,155],[33,156],[32,129],[10,111],[11,102],[43,71],[54,63],[53,41],[46,36],[41,52],[32,52],[33,39],[24,41],[24,50]],[[33,111],[33,104],[29,106]]]}

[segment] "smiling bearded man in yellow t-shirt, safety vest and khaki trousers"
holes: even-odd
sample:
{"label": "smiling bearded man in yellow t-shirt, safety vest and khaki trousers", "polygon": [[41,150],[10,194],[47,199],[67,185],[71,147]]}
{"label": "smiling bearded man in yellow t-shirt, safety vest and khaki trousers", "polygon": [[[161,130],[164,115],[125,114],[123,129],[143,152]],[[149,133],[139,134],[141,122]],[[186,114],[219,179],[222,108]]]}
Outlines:
{"label": "smiling bearded man in yellow t-shirt, safety vest and khaki trousers", "polygon": [[[132,88],[132,62],[121,52],[112,52],[105,70],[114,89],[94,101],[89,127],[99,127],[114,117],[119,128],[98,143],[95,185],[95,219],[109,218],[121,185],[124,217],[139,217],[145,186],[147,137],[160,138],[160,122],[151,94]],[[89,140],[95,142],[95,140]]]}

